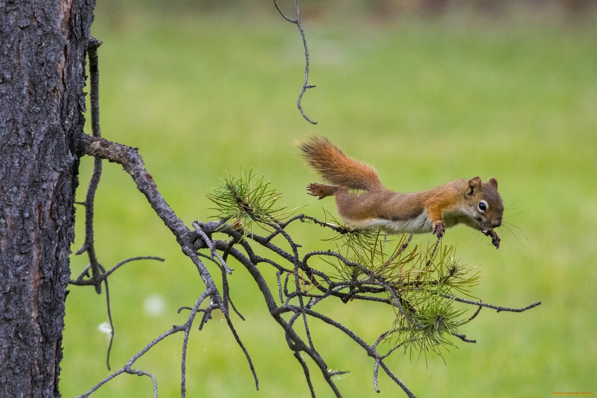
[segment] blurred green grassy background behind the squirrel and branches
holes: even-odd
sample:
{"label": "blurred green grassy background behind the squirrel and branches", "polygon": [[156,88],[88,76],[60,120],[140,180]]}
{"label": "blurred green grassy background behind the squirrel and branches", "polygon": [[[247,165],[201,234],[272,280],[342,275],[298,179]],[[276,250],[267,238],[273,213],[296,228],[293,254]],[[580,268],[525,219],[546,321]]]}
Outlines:
{"label": "blurred green grassy background behind the squirrel and branches", "polygon": [[[418,397],[543,397],[597,393],[597,18],[592,4],[303,2],[311,54],[301,118],[296,97],[304,55],[296,26],[268,2],[119,2],[99,0],[92,34],[103,39],[100,106],[103,136],[140,148],[165,199],[190,226],[214,212],[205,193],[227,172],[253,168],[284,192],[290,206],[333,199],[305,195],[318,177],[292,142],[327,135],[346,153],[373,164],[390,189],[412,192],[454,178],[494,176],[513,234],[500,230],[498,251],[466,227],[448,231],[458,255],[482,263],[473,294],[487,308],[466,325],[469,338],[440,357],[387,360]],[[439,4],[439,6],[438,6]],[[499,7],[498,7],[499,5]],[[593,4],[594,5],[594,4]],[[291,2],[282,7],[292,14]],[[575,8],[576,7],[576,8]],[[78,200],[84,200],[92,159],[81,162]],[[84,237],[77,211],[75,251]],[[290,229],[303,252],[328,248],[321,227]],[[427,244],[430,235],[417,236]],[[432,238],[431,238],[432,239]],[[173,324],[186,320],[204,285],[131,178],[104,162],[96,196],[96,250],[111,267],[137,261],[110,277],[116,337],[112,367]],[[73,274],[85,255],[72,257]],[[207,264],[214,276],[213,264]],[[250,352],[260,391],[241,349],[214,312],[193,328],[187,396],[309,397],[300,365],[282,329],[267,313],[248,272],[230,277],[233,322]],[[323,267],[323,265],[322,265]],[[260,265],[275,286],[273,268]],[[275,290],[276,294],[277,291]],[[104,295],[72,286],[66,305],[60,390],[84,393],[106,375]],[[374,303],[325,300],[319,310],[373,342],[393,314]],[[471,308],[474,310],[474,308]],[[472,311],[471,311],[472,312]],[[198,321],[196,323],[198,326]],[[373,360],[352,340],[312,320],[316,348],[346,397],[405,396],[385,375],[373,389]],[[182,334],[168,337],[134,368],[153,372],[161,397],[180,395]],[[318,396],[332,396],[313,366]],[[149,397],[149,378],[120,375],[96,397]]]}

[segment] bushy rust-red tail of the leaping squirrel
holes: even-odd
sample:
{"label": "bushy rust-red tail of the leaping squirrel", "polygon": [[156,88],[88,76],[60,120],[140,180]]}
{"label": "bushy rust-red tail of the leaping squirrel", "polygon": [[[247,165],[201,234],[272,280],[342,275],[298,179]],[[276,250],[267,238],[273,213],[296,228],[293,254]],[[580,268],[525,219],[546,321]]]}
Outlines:
{"label": "bushy rust-red tail of the leaping squirrel", "polygon": [[327,183],[348,189],[375,190],[381,187],[373,167],[349,158],[325,137],[313,136],[297,143],[303,158]]}

